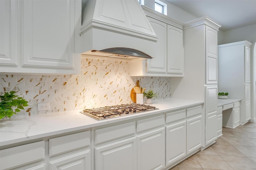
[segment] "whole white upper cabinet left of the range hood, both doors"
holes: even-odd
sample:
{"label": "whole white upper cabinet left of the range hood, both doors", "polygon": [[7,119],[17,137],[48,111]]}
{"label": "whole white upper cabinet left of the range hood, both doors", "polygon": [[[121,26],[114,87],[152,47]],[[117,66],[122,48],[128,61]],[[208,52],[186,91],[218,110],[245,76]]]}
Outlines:
{"label": "whole white upper cabinet left of the range hood, both doors", "polygon": [[[3,26],[1,21],[1,72],[80,72],[80,0],[4,2],[1,9],[10,11],[4,15]],[[2,43],[6,40],[9,43]]]}

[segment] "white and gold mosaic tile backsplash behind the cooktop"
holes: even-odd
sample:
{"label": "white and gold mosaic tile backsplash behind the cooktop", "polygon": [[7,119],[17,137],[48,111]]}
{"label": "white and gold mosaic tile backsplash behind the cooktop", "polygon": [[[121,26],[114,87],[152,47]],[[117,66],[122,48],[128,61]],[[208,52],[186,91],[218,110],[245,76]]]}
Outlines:
{"label": "white and gold mosaic tile backsplash behind the cooktop", "polygon": [[[79,75],[1,74],[0,95],[18,91],[29,101],[14,117],[132,103],[130,91],[137,80],[157,99],[171,97],[170,77],[130,77],[128,61],[82,57],[81,67]],[[50,103],[50,110],[37,111],[37,103]]]}

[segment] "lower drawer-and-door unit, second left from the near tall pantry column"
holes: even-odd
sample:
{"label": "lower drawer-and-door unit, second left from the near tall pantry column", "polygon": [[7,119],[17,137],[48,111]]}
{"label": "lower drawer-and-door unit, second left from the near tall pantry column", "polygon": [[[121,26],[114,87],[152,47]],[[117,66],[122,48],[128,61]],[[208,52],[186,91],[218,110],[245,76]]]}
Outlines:
{"label": "lower drawer-and-door unit, second left from the near tall pantry column", "polygon": [[186,156],[186,110],[167,113],[166,166],[184,156]]}

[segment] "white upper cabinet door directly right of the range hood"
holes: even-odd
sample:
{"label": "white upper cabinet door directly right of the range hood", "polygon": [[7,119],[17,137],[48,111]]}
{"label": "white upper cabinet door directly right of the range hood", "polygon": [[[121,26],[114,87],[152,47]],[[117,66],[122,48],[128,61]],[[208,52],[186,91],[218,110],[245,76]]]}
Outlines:
{"label": "white upper cabinet door directly right of the range hood", "polygon": [[167,24],[148,17],[148,20],[158,36],[158,41],[155,43],[155,48],[148,49],[148,54],[153,59],[147,60],[147,72],[166,73],[167,61]]}

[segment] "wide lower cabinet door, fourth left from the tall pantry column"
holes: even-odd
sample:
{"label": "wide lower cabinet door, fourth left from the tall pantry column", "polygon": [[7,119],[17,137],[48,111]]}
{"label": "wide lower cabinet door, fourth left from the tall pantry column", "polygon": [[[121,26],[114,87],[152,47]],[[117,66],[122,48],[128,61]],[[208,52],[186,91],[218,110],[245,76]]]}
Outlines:
{"label": "wide lower cabinet door, fourth left from the tall pantry column", "polygon": [[136,170],[136,137],[95,148],[95,170]]}

